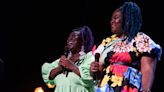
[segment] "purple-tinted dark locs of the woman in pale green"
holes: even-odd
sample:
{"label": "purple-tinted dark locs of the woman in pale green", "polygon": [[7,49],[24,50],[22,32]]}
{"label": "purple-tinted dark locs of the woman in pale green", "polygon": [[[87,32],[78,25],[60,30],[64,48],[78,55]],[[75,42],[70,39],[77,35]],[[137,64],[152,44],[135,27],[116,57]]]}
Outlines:
{"label": "purple-tinted dark locs of the woman in pale green", "polygon": [[91,29],[88,26],[82,26],[73,29],[73,31],[80,32],[80,37],[82,39],[82,48],[84,52],[89,52],[92,50],[94,38]]}

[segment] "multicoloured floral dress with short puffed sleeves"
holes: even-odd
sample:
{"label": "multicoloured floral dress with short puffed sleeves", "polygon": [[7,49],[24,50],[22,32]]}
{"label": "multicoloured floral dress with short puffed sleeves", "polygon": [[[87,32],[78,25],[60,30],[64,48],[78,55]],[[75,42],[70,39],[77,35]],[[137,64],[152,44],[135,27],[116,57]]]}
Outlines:
{"label": "multicoloured floral dress with short puffed sleeves", "polygon": [[96,92],[142,91],[141,56],[150,56],[159,61],[162,53],[161,47],[142,32],[131,42],[112,35],[102,41],[95,50],[97,52],[101,53],[100,61],[105,69]]}

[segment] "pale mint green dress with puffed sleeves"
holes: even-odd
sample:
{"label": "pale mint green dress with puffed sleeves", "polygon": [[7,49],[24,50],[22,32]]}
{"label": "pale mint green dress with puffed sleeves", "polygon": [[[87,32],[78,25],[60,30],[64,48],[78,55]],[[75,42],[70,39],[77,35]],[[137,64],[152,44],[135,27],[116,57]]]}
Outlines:
{"label": "pale mint green dress with puffed sleeves", "polygon": [[93,78],[90,74],[90,64],[94,61],[92,52],[83,53],[75,65],[79,68],[80,76],[74,72],[59,74],[53,80],[49,80],[49,74],[52,69],[58,66],[59,59],[52,63],[42,65],[42,77],[45,83],[55,85],[54,92],[94,92]]}

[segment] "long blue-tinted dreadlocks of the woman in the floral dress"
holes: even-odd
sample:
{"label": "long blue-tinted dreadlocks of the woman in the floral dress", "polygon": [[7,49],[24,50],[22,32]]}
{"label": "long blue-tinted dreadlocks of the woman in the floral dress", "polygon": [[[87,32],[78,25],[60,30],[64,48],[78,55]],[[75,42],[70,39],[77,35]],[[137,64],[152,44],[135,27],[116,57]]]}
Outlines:
{"label": "long blue-tinted dreadlocks of the woman in the floral dress", "polygon": [[119,10],[123,15],[123,31],[128,36],[128,41],[131,41],[142,26],[141,10],[134,2],[125,2]]}

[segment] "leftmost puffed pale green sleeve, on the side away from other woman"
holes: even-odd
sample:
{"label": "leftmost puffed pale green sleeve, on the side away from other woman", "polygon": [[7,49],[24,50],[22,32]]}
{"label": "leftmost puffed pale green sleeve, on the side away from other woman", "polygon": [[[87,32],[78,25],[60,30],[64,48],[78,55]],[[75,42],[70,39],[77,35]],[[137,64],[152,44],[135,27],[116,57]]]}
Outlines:
{"label": "leftmost puffed pale green sleeve, on the side away from other woman", "polygon": [[59,59],[53,61],[52,63],[44,63],[41,67],[41,73],[42,73],[42,78],[44,82],[50,83],[51,85],[54,85],[54,80],[49,80],[49,75],[52,69],[56,68],[58,66]]}

